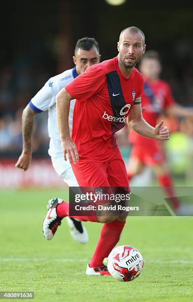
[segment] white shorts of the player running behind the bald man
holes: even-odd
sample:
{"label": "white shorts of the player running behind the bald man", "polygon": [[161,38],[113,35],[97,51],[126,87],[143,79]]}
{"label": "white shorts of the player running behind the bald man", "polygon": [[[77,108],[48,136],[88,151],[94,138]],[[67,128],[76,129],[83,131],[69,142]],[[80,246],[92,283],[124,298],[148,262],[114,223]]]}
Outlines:
{"label": "white shorts of the player running behind the bald man", "polygon": [[65,161],[63,156],[51,156],[51,161],[56,173],[69,187],[78,187],[77,179],[69,161]]}

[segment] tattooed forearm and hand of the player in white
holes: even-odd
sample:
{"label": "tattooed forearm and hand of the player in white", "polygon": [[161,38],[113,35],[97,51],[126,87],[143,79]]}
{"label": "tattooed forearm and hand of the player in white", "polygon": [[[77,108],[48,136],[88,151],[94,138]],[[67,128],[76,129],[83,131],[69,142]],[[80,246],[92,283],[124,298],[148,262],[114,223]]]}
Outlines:
{"label": "tattooed forearm and hand of the player in white", "polygon": [[37,114],[29,105],[26,106],[22,113],[22,137],[23,150],[19,156],[15,167],[26,171],[32,160],[32,131],[34,124],[34,115]]}

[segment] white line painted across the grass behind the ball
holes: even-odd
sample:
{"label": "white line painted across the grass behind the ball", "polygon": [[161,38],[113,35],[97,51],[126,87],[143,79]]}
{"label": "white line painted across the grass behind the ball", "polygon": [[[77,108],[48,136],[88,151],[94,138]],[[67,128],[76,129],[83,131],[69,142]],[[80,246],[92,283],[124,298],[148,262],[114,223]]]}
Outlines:
{"label": "white line painted across the grass behind the ball", "polygon": [[[71,259],[71,258],[0,258],[0,262],[41,262],[41,261],[55,261],[55,262],[88,262],[89,259]],[[155,264],[193,264],[193,260],[144,260],[145,263]]]}

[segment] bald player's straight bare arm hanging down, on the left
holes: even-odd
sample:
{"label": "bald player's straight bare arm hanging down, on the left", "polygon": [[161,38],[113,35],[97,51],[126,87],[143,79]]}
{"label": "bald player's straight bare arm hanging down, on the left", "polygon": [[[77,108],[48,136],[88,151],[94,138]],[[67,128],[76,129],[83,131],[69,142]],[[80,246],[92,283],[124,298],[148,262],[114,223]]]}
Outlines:
{"label": "bald player's straight bare arm hanging down, on the left", "polygon": [[60,133],[61,147],[64,155],[64,159],[67,160],[66,154],[70,163],[72,159],[74,164],[78,161],[77,145],[71,140],[69,130],[69,110],[70,102],[73,97],[68,91],[63,88],[56,96],[56,108],[57,108],[57,123]]}

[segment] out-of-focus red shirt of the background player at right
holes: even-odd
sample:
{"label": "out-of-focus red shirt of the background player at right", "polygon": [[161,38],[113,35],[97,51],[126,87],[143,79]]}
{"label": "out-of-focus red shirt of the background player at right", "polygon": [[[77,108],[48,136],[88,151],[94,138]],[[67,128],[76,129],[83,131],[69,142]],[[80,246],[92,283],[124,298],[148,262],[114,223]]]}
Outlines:
{"label": "out-of-focus red shirt of the background player at right", "polygon": [[[144,94],[141,99],[141,105],[142,108],[145,107],[143,117],[150,125],[155,127],[159,114],[164,109],[171,107],[174,102],[170,86],[167,82],[161,79],[150,82],[144,77]],[[136,143],[144,142],[145,140],[149,139],[130,130],[129,142]]]}

